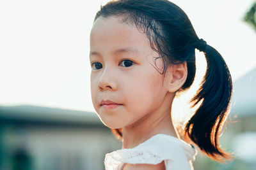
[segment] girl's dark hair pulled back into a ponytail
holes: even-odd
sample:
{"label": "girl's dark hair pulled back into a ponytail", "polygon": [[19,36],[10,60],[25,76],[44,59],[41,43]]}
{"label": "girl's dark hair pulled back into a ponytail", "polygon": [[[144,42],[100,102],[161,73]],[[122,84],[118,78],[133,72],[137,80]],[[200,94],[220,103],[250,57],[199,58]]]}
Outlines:
{"label": "girl's dark hair pulled back into a ponytail", "polygon": [[[122,22],[136,25],[147,34],[153,50],[159,53],[166,66],[187,62],[188,77],[180,90],[188,89],[194,81],[195,48],[204,52],[207,70],[200,89],[191,99],[193,106],[200,104],[185,127],[189,138],[209,157],[221,161],[231,155],[221,150],[218,136],[228,115],[232,96],[232,80],[227,64],[212,46],[196,36],[184,11],[167,0],[120,0],[101,6],[95,16],[122,16]],[[157,57],[159,58],[159,57]],[[122,129],[112,129],[122,138]]]}

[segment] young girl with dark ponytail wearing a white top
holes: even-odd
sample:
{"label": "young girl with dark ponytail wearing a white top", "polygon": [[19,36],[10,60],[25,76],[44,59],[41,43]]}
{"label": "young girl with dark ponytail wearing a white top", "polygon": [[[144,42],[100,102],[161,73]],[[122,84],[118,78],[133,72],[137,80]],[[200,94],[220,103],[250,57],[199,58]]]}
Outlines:
{"label": "young girl with dark ponytail wearing a white top", "polygon": [[[172,124],[172,102],[195,78],[195,49],[207,71],[191,103],[184,134],[212,159],[230,154],[218,136],[228,115],[232,80],[225,61],[196,36],[187,15],[167,0],[120,0],[102,6],[90,35],[92,101],[100,120],[122,140],[106,169],[193,169],[192,145]],[[182,93],[181,93],[182,94]]]}

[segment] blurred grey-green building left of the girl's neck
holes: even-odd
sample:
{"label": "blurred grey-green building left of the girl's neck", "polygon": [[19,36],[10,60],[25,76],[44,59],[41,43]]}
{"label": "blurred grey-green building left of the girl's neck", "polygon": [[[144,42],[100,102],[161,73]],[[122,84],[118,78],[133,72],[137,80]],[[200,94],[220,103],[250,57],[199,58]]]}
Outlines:
{"label": "blurred grey-green building left of the girl's neck", "polygon": [[101,170],[105,154],[119,148],[95,113],[0,107],[0,170]]}

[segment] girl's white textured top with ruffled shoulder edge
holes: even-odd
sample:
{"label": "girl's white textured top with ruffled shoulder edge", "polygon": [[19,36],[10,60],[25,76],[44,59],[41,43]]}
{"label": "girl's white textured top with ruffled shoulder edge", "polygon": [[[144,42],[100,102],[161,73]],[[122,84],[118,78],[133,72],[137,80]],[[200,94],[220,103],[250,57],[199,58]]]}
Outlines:
{"label": "girl's white textured top with ruffled shoulder edge", "polygon": [[164,160],[166,170],[191,170],[195,155],[195,148],[181,139],[156,134],[134,148],[107,153],[104,164],[106,170],[121,170],[124,163],[156,165]]}

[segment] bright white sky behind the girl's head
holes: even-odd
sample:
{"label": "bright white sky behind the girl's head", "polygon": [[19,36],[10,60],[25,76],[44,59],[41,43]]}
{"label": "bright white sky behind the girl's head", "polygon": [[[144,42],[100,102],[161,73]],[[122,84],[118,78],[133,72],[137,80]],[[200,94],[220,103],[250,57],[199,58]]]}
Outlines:
{"label": "bright white sky behind the girl's head", "polygon": [[[0,105],[94,111],[89,35],[106,1],[0,1]],[[242,21],[248,1],[175,0],[200,38],[226,60],[233,80],[256,66],[256,32]],[[198,71],[205,69],[204,56]]]}

